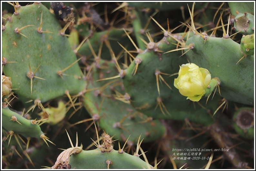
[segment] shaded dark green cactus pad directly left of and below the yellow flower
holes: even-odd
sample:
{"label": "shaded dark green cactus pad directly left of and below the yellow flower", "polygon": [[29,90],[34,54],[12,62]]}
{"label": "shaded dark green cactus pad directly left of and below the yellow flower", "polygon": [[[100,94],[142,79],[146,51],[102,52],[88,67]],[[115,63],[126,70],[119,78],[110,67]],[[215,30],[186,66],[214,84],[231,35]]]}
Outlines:
{"label": "shaded dark green cactus pad directly left of and below the yellow flower", "polygon": [[[173,36],[182,37],[182,34]],[[176,45],[172,43],[176,44],[177,42],[170,37],[163,38],[161,41],[155,43],[155,46],[160,51],[167,52],[176,49]],[[187,63],[187,59],[184,56],[180,57],[181,55],[182,53],[177,51],[163,54],[149,51],[148,49],[138,54],[136,58],[140,58],[142,63],[138,65],[135,75],[133,75],[133,69],[136,64],[133,62],[129,65],[127,74],[123,78],[124,89],[131,96],[133,107],[150,117],[174,120],[184,120],[187,118],[190,121],[198,123],[212,124],[214,119],[207,114],[207,110],[215,110],[217,103],[209,101],[209,106],[206,106],[207,109],[200,106],[197,106],[195,109],[193,105],[196,104],[193,104],[190,100],[186,100],[186,97],[182,96],[179,90],[173,86],[176,75],[169,77],[168,75],[162,74],[162,78],[172,90],[165,83],[159,81],[160,95],[158,93],[156,70],[167,74],[178,73],[180,65]],[[162,101],[166,110],[162,104],[158,103],[160,101]],[[203,99],[203,106],[205,102],[206,99]]]}

